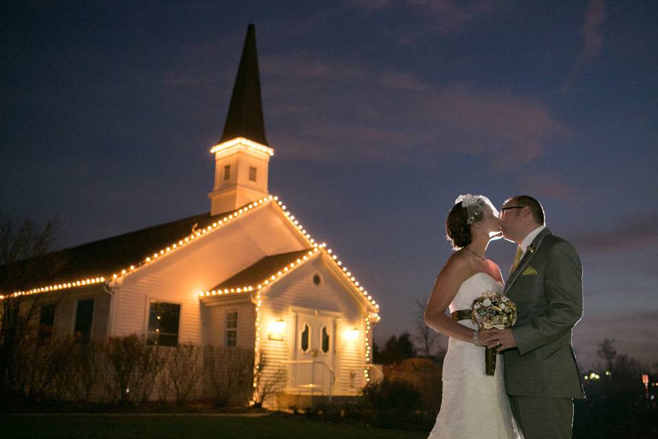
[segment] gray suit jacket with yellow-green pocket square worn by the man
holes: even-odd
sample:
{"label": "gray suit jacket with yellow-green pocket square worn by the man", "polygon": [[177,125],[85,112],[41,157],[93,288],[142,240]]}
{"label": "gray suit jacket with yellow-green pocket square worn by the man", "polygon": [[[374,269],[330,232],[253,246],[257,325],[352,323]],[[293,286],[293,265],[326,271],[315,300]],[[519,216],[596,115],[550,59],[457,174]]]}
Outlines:
{"label": "gray suit jacket with yellow-green pocket square worn by the man", "polygon": [[583,270],[576,249],[548,228],[528,246],[505,285],[517,306],[517,348],[504,351],[505,387],[514,396],[583,398],[571,342],[583,315]]}

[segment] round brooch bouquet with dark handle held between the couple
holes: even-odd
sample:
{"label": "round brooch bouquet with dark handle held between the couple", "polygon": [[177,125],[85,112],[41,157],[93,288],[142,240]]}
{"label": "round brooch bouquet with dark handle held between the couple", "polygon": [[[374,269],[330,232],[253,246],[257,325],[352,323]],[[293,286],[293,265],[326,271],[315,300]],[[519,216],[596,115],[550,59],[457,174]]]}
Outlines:
{"label": "round brooch bouquet with dark handle held between the couple", "polygon": [[[502,293],[485,292],[471,305],[471,320],[479,329],[511,328],[516,324],[516,319],[516,305]],[[485,372],[493,375],[496,372],[496,349],[486,349]]]}

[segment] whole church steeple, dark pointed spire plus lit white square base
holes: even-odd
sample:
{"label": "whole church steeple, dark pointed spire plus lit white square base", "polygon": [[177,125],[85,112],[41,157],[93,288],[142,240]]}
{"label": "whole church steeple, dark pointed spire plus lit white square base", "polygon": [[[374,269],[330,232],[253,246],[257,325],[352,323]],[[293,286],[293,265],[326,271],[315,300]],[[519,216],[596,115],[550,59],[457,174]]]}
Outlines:
{"label": "whole church steeple, dark pointed spire plus lit white square base", "polygon": [[265,138],[256,28],[252,24],[247,27],[224,131],[210,152],[215,154],[215,186],[208,193],[211,215],[238,209],[269,195],[267,174],[274,150]]}

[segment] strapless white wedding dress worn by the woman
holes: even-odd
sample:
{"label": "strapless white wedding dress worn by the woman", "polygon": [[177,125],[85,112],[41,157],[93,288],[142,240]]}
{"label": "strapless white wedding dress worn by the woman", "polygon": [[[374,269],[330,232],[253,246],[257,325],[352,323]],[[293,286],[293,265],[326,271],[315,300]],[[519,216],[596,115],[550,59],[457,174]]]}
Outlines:
{"label": "strapless white wedding dress worn by the woman", "polygon": [[[484,292],[502,289],[489,274],[476,273],[460,285],[450,312],[469,309]],[[476,329],[470,320],[459,324]],[[503,368],[502,355],[497,355],[495,375],[486,375],[485,348],[450,337],[443,360],[441,411],[428,439],[522,438],[505,392]]]}

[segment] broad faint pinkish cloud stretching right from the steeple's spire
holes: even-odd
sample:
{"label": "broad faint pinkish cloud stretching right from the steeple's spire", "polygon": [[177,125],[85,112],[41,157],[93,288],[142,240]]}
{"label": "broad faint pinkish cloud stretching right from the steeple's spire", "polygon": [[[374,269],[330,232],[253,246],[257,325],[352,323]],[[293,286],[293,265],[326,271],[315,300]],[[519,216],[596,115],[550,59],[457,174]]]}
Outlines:
{"label": "broad faint pinkish cloud stretching right from the steeple's spire", "polygon": [[507,91],[308,54],[264,57],[260,71],[271,137],[287,158],[404,163],[452,152],[511,167],[570,134],[541,100]]}

